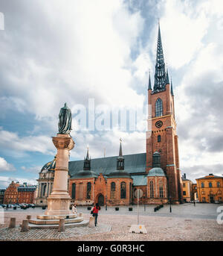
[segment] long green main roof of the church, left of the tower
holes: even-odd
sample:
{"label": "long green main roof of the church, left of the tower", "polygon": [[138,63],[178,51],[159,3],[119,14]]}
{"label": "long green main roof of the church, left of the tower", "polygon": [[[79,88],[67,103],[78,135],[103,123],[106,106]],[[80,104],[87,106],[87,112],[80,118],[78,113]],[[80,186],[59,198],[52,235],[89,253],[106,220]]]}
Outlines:
{"label": "long green main roof of the church, left of the tower", "polygon": [[[125,158],[125,172],[143,173],[146,172],[146,153],[140,154],[126,154]],[[69,162],[69,175],[71,178],[83,169],[84,160],[70,161]],[[109,175],[117,169],[117,156],[114,157],[101,157],[91,159],[91,170],[97,175]]]}

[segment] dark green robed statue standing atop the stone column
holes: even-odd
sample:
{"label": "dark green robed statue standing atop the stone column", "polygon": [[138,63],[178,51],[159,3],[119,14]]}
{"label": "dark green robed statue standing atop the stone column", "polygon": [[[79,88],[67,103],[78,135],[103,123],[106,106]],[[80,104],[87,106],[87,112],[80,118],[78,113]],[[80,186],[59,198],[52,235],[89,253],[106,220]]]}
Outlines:
{"label": "dark green robed statue standing atop the stone column", "polygon": [[67,104],[64,104],[59,111],[59,134],[70,134],[72,127],[71,127],[71,110],[67,107]]}

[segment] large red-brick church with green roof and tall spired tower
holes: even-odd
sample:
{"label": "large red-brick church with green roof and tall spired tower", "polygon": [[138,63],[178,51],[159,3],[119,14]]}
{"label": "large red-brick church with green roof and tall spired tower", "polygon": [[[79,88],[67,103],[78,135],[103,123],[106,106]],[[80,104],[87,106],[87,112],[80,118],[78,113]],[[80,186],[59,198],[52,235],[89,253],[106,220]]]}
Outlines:
{"label": "large red-brick church with green roof and tall spired tower", "polygon": [[[132,205],[137,204],[135,192],[140,189],[140,204],[183,203],[174,94],[164,63],[160,25],[155,81],[152,88],[149,74],[148,103],[152,106],[152,115],[148,119],[152,131],[146,134],[146,153],[124,155],[120,141],[118,156],[91,159],[87,150],[84,160],[70,161],[68,193],[71,202],[77,205],[92,205],[94,202]],[[42,172],[48,172],[48,166],[51,166],[49,172],[54,172],[51,162],[45,164],[39,172],[39,182]],[[39,187],[39,200],[47,196]]]}

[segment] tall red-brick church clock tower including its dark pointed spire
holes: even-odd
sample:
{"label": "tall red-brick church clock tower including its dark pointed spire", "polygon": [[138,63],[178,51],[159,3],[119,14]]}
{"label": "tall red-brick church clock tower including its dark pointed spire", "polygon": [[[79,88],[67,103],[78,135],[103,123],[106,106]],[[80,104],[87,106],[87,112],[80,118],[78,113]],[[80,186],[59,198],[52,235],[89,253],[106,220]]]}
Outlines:
{"label": "tall red-brick church clock tower including its dark pointed spire", "polygon": [[159,152],[161,168],[167,175],[168,199],[172,203],[183,202],[182,181],[179,169],[178,136],[176,134],[174,95],[169,84],[169,74],[164,63],[161,29],[158,24],[158,43],[155,63],[155,81],[152,90],[149,74],[148,104],[152,106],[152,131],[146,137],[146,172],[152,169],[152,155]]}

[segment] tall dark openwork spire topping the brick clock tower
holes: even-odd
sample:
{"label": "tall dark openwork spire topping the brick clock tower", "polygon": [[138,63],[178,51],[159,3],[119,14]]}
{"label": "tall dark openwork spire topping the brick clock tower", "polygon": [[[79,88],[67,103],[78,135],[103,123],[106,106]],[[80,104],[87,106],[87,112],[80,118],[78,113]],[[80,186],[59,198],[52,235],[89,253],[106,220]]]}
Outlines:
{"label": "tall dark openwork spire topping the brick clock tower", "polygon": [[166,85],[166,71],[164,63],[164,52],[161,41],[161,28],[160,22],[158,23],[158,42],[156,51],[156,63],[155,63],[155,81],[154,81],[154,92],[165,90]]}

